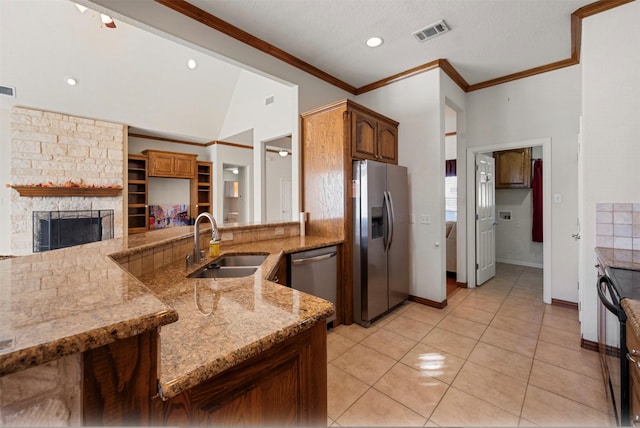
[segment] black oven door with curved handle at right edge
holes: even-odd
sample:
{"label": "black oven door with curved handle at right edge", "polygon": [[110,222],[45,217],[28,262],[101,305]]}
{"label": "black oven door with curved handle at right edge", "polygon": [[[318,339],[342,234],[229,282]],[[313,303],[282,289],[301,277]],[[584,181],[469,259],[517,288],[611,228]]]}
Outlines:
{"label": "black oven door with curved handle at right edge", "polygon": [[626,314],[620,306],[620,293],[608,276],[597,284],[598,350],[608,395],[613,402],[616,422],[629,424],[629,362],[626,359]]}

